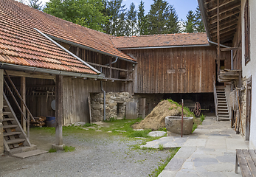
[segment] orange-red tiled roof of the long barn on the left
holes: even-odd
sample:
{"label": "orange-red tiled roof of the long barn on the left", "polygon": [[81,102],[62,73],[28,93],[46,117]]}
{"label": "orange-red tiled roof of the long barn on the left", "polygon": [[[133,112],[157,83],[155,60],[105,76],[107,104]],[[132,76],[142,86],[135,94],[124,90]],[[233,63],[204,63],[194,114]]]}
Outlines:
{"label": "orange-red tiled roof of the long barn on the left", "polygon": [[14,0],[0,1],[0,62],[66,72],[97,74],[43,35],[89,46],[120,58],[134,60],[111,43],[110,35],[35,10]]}

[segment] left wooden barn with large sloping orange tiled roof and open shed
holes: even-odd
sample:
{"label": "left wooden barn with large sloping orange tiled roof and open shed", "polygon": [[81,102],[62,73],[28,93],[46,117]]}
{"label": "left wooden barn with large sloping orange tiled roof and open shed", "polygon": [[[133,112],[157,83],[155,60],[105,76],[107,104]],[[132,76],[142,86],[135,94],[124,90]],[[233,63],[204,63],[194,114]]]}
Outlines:
{"label": "left wooden barn with large sloping orange tiled roof and open shed", "polygon": [[0,1],[0,17],[0,153],[32,148],[28,122],[35,117],[56,117],[61,148],[62,125],[89,122],[91,93],[131,87],[136,60],[109,35],[13,0]]}

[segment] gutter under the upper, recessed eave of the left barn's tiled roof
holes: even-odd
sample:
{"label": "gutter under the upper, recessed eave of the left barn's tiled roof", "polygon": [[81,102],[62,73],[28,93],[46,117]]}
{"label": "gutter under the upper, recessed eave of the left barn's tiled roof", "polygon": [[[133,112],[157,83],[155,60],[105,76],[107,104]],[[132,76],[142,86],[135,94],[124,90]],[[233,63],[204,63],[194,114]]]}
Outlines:
{"label": "gutter under the upper, recessed eave of the left barn's tiled roof", "polygon": [[[47,35],[47,36],[48,36],[49,38],[52,38],[52,39],[57,40],[57,41],[60,41],[60,42],[64,42],[64,43],[66,43],[66,44],[70,44],[70,45],[72,45],[72,46],[78,46],[78,47],[80,47],[81,49],[88,49],[88,50],[91,50],[92,52],[101,53],[101,54],[103,54],[103,55],[108,55],[108,56],[111,56],[111,57],[113,57],[113,58],[117,58],[117,57],[118,57],[117,55],[111,55],[111,54],[109,54],[109,53],[107,53],[107,52],[103,52],[103,51],[100,51],[100,50],[98,50],[98,49],[91,48],[91,47],[89,47],[89,46],[84,46],[84,45],[82,45],[82,44],[77,44],[77,43],[75,43],[75,42],[67,41],[67,40],[62,39],[62,38],[57,38],[57,37],[55,37],[55,36],[53,36],[53,35]],[[125,61],[130,62],[130,63],[137,63],[136,61],[133,61],[133,60],[128,60],[128,59],[120,58],[120,57],[118,57],[118,58],[119,58],[120,60],[125,60]]]}

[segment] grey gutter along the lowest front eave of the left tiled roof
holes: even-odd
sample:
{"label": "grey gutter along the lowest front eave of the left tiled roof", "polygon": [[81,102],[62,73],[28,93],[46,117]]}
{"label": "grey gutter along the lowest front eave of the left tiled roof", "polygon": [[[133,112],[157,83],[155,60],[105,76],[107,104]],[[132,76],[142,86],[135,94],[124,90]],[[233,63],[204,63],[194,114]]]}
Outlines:
{"label": "grey gutter along the lowest front eave of the left tiled roof", "polygon": [[0,63],[0,69],[8,69],[8,70],[17,70],[17,71],[26,71],[26,72],[42,72],[46,74],[54,74],[54,75],[65,75],[65,76],[72,76],[72,77],[88,77],[94,79],[103,79],[105,77],[104,74],[82,74],[77,72],[65,72],[60,70],[53,70],[53,69],[43,69],[31,66],[21,66],[15,65],[10,63]]}

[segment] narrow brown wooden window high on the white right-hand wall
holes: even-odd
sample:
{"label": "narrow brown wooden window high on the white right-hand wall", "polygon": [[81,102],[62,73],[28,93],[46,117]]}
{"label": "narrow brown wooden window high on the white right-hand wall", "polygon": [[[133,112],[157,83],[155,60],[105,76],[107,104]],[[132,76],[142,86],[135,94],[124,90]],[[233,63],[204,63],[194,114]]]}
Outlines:
{"label": "narrow brown wooden window high on the white right-hand wall", "polygon": [[244,6],[244,58],[245,64],[247,64],[250,59],[250,27],[249,27],[249,0],[246,0],[246,4]]}

